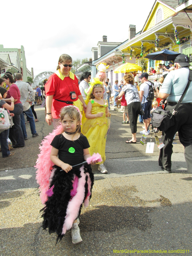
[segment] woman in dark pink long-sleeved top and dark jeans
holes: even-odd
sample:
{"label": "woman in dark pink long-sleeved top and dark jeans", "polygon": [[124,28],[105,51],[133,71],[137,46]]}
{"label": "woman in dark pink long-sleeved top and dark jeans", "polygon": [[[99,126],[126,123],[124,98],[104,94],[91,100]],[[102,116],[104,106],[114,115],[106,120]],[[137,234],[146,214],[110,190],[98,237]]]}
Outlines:
{"label": "woman in dark pink long-sleeved top and dark jeans", "polygon": [[13,126],[9,129],[9,139],[12,141],[13,148],[20,148],[25,146],[23,132],[20,125],[20,114],[23,112],[23,105],[20,102],[20,90],[14,79],[10,74],[4,74],[3,79],[9,86],[7,91],[7,97],[4,99],[9,105],[11,105],[11,97],[14,98],[14,110],[10,111],[13,113]]}

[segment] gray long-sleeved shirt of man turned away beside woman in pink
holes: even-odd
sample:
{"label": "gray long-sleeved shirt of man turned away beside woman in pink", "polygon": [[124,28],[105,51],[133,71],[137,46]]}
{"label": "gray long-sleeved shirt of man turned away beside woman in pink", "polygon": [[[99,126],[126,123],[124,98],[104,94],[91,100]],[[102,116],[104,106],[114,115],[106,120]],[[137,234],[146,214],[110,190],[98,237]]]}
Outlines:
{"label": "gray long-sleeved shirt of man turned away beside woman in pink", "polygon": [[30,103],[27,102],[27,100],[29,100],[29,95],[30,95],[31,101],[34,101],[35,100],[35,92],[33,91],[33,89],[31,88],[31,86],[28,83],[25,83],[21,80],[16,81],[15,84],[17,84],[17,86],[20,90],[20,95],[21,95],[20,101],[23,105],[23,111],[26,111],[31,106]]}

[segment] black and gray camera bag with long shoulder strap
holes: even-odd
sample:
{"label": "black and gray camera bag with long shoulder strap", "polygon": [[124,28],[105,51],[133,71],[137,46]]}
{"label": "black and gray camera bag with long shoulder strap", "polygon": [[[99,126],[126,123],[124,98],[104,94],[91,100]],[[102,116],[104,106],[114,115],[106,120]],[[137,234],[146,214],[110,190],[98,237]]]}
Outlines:
{"label": "black and gray camera bag with long shoulder strap", "polygon": [[158,128],[160,131],[165,132],[169,127],[175,124],[174,115],[177,112],[185,94],[189,88],[190,82],[192,81],[192,70],[189,70],[188,83],[185,87],[183,94],[180,97],[180,100],[177,102],[177,105],[171,113],[169,110],[164,110],[161,106],[154,109],[151,113],[151,124],[152,127]]}

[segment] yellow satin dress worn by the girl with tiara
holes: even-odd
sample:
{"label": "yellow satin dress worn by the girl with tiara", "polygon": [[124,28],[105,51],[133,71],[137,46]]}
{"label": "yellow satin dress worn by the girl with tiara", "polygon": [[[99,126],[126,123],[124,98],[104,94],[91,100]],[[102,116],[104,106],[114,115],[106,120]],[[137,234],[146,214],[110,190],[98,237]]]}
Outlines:
{"label": "yellow satin dress worn by the girl with tiara", "polygon": [[[99,153],[102,157],[102,164],[105,162],[105,134],[108,128],[108,118],[105,116],[106,107],[108,107],[107,100],[103,100],[103,105],[95,102],[94,100],[89,100],[92,103],[91,114],[95,115],[100,112],[103,116],[85,119],[82,126],[82,133],[87,137],[90,148],[89,153],[92,156],[93,153]],[[101,163],[100,163],[101,164]]]}

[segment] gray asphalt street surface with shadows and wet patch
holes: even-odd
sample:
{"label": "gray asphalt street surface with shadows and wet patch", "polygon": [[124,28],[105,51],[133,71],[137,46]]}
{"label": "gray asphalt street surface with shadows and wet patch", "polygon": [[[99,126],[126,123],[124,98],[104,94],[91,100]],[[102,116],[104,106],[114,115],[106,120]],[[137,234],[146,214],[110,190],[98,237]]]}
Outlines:
{"label": "gray asphalt street surface with shadows and wet patch", "polygon": [[[55,246],[56,235],[41,228],[39,211],[43,206],[33,167],[38,145],[52,127],[44,121],[44,110],[36,110],[39,136],[32,138],[27,123],[26,146],[14,149],[12,157],[1,158],[0,154],[0,256],[192,255],[192,174],[187,173],[178,135],[173,144],[172,173],[166,174],[158,166],[156,145],[154,153],[147,154],[146,145],[125,144],[131,138],[130,127],[121,124],[122,113],[115,111],[106,143],[108,174],[93,166],[92,199],[80,216],[83,242],[72,244],[68,231]],[[141,126],[138,124],[138,131]],[[137,133],[137,141],[140,137]]]}

